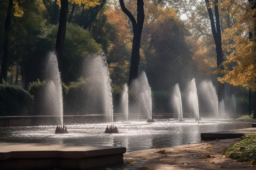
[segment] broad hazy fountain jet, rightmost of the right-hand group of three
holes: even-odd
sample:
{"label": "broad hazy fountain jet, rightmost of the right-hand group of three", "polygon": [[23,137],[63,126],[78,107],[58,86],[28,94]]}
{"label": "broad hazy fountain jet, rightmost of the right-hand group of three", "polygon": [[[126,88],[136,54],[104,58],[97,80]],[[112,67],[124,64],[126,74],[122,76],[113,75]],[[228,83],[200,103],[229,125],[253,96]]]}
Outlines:
{"label": "broad hazy fountain jet, rightmost of the right-hand group of three", "polygon": [[199,85],[200,96],[204,101],[205,106],[210,112],[213,112],[215,117],[219,117],[218,112],[218,96],[216,88],[211,80],[205,80]]}

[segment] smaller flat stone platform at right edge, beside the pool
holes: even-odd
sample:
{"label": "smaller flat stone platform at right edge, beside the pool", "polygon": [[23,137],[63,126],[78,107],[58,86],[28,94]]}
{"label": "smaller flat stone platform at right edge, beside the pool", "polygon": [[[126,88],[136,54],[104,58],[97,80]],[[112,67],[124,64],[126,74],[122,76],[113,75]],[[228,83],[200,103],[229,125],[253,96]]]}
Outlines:
{"label": "smaller flat stone platform at right edge, beside the pool", "polygon": [[220,132],[201,133],[201,139],[233,139],[240,138],[247,134],[255,134],[256,128],[227,130]]}

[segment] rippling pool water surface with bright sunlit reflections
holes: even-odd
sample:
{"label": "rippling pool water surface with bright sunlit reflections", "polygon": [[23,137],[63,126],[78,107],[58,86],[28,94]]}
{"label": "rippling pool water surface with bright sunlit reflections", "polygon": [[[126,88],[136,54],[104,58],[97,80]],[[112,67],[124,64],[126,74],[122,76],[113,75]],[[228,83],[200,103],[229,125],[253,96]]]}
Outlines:
{"label": "rippling pool water surface with bright sunlit reflections", "polygon": [[127,151],[170,147],[200,142],[200,133],[249,128],[250,122],[203,119],[156,120],[155,123],[116,122],[119,134],[105,134],[106,123],[74,124],[68,134],[54,134],[55,126],[0,127],[0,142],[80,143],[124,146]]}

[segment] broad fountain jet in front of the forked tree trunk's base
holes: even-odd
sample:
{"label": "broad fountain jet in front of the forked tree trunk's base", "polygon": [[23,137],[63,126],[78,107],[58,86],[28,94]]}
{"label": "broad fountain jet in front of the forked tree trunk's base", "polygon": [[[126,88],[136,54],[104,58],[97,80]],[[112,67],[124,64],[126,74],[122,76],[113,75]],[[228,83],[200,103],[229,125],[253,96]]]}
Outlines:
{"label": "broad fountain jet in front of the forked tree trunk's base", "polygon": [[148,119],[147,122],[154,122],[152,119],[151,87],[148,84],[147,76],[144,71],[131,83],[131,91],[135,103],[139,104],[139,114],[145,113]]}

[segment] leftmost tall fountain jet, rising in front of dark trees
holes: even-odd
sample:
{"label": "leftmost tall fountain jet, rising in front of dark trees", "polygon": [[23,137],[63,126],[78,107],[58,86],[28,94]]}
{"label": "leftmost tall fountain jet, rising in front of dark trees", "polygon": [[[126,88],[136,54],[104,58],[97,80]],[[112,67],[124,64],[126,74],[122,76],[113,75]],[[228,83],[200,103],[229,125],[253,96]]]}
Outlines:
{"label": "leftmost tall fountain jet, rising in front of dark trees", "polygon": [[51,115],[57,116],[57,123],[63,126],[63,97],[60,71],[57,57],[54,52],[50,52],[46,59],[44,76],[47,80],[45,89],[45,101]]}

